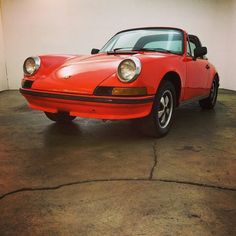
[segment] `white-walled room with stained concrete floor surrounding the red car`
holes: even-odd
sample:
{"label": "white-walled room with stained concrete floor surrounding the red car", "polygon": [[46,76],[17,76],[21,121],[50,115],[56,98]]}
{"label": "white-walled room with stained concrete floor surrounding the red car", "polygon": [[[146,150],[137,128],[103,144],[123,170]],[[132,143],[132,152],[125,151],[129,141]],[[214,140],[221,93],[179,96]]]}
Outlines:
{"label": "white-walled room with stained concrete floor surrounding the red car", "polygon": [[[1,0],[0,235],[236,235],[236,1]],[[116,32],[199,36],[217,105],[154,139],[131,121],[55,124],[20,95],[31,55],[89,54]]]}

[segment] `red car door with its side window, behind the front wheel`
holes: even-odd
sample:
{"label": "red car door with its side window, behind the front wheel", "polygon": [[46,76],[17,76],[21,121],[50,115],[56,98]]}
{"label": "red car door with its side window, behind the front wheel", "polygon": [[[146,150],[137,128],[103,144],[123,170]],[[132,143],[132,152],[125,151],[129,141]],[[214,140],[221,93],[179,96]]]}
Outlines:
{"label": "red car door with its side window, behind the front wheel", "polygon": [[186,100],[205,96],[208,93],[206,86],[210,76],[209,63],[205,56],[194,58],[194,49],[201,46],[201,42],[196,36],[189,35],[187,40],[186,86],[184,96]]}

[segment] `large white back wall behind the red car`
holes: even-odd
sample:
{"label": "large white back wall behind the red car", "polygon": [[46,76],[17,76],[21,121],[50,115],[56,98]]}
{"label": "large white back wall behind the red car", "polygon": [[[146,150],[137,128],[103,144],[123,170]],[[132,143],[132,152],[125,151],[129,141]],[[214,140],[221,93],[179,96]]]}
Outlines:
{"label": "large white back wall behind the red car", "polygon": [[85,54],[122,29],[176,26],[199,35],[221,87],[236,90],[234,0],[2,0],[2,6],[11,89],[20,86],[27,56]]}

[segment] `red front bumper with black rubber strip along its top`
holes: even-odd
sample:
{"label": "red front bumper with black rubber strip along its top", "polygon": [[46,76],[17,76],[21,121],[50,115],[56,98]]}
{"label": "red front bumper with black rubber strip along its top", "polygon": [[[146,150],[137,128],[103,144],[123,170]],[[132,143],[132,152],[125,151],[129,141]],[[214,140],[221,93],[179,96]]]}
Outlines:
{"label": "red front bumper with black rubber strip along its top", "polygon": [[68,93],[51,93],[32,89],[20,89],[36,110],[56,113],[68,112],[84,118],[120,120],[145,117],[150,114],[154,96],[99,97]]}

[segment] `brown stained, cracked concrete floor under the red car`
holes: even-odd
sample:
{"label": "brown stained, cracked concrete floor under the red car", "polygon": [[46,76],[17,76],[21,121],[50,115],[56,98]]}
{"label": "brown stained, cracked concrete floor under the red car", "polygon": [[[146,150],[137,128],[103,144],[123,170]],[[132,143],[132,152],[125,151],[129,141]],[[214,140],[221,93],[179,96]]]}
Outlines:
{"label": "brown stained, cracked concrete floor under the red car", "polygon": [[177,110],[163,139],[68,126],[0,93],[0,235],[236,235],[236,92]]}

